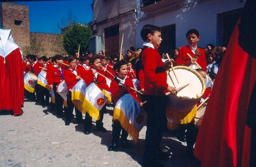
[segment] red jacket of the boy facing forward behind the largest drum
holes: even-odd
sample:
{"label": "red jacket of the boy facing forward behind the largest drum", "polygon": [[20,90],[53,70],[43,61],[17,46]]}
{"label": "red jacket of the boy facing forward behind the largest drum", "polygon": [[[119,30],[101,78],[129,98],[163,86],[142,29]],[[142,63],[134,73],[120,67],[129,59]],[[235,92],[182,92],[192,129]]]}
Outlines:
{"label": "red jacket of the boy facing forward behind the largest drum", "polygon": [[[204,54],[204,50],[201,48],[198,48],[200,51],[200,56],[197,59],[197,63],[199,64],[199,66],[201,66],[202,69],[206,70],[206,60],[205,60],[205,54]],[[194,53],[192,52],[192,50],[190,49],[189,45],[183,46],[180,51],[179,54],[177,56],[176,59],[176,64],[177,65],[183,65],[183,66],[190,66],[190,58],[188,57],[187,53],[189,55],[191,55],[192,58],[194,58]]]}

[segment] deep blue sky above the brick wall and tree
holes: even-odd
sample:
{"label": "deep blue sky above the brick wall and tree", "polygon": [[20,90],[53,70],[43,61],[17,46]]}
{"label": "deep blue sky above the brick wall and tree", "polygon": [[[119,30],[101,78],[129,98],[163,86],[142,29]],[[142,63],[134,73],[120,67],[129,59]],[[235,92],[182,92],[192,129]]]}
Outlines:
{"label": "deep blue sky above the brick wall and tree", "polygon": [[88,23],[93,20],[91,4],[93,0],[69,1],[36,1],[13,2],[29,6],[30,32],[59,33],[58,23],[61,18],[68,18],[72,13],[78,23]]}

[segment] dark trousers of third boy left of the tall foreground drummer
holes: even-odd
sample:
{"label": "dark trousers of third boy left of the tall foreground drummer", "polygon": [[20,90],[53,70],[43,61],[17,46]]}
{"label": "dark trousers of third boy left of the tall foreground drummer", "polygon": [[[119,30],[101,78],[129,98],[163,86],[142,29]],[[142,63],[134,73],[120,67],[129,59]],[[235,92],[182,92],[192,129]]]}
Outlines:
{"label": "dark trousers of third boy left of the tall foreground drummer", "polygon": [[[73,110],[75,105],[72,102],[72,92],[68,92],[67,94],[67,104],[68,107],[65,109],[65,116],[66,116],[66,121],[71,121],[73,118]],[[79,112],[79,110],[75,107],[75,113],[76,113],[76,121],[82,120],[82,113]]]}

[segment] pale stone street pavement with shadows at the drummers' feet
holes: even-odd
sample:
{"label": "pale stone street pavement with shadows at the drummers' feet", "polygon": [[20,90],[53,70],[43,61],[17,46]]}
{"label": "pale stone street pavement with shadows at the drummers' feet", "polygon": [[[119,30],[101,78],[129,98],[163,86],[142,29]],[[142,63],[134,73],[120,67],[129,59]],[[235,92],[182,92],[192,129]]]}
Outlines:
{"label": "pale stone street pavement with shadows at the drummers' feet", "polygon": [[[108,151],[112,139],[112,110],[104,114],[107,132],[96,130],[83,134],[83,124],[75,119],[65,126],[49,108],[25,101],[24,114],[19,117],[0,116],[0,166],[141,166],[144,151],[144,127],[135,144],[131,138],[128,149]],[[184,143],[173,140],[169,132],[163,136],[161,148],[169,159],[166,166],[200,166],[186,158]]]}

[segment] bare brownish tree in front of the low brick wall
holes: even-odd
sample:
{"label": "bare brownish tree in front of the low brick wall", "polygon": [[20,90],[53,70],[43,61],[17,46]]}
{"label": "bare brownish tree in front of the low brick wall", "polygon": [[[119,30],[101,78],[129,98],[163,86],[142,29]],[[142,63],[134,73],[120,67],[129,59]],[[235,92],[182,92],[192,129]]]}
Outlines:
{"label": "bare brownish tree in front of the low brick wall", "polygon": [[24,47],[23,52],[25,55],[46,55],[44,46],[41,44],[41,41],[38,40],[36,37],[33,37],[30,40],[30,44]]}

